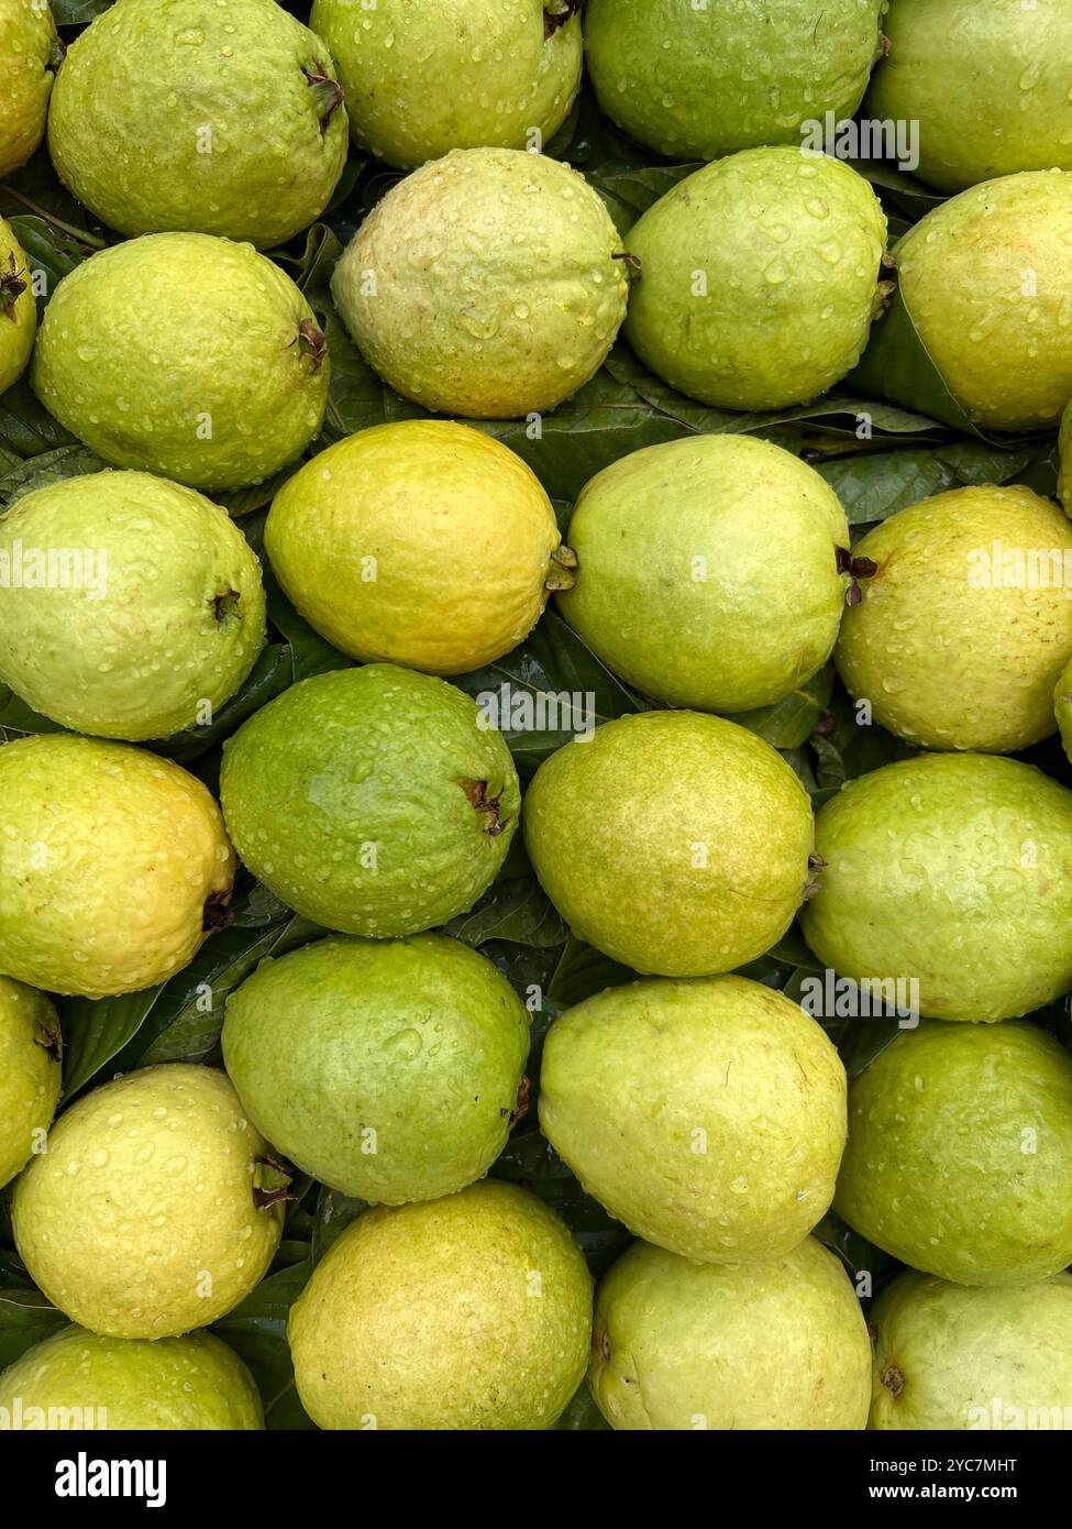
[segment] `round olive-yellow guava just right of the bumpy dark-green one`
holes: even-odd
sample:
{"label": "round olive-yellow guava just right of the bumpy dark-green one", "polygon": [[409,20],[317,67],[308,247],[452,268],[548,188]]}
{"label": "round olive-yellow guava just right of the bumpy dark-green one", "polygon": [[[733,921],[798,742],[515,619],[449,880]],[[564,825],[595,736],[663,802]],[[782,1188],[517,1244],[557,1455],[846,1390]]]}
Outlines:
{"label": "round olive-yellow guava just right of the bumpy dark-green one", "polygon": [[645,974],[754,960],[810,876],[812,809],[792,769],[754,732],[694,711],[619,717],[558,749],[523,826],[573,933]]}

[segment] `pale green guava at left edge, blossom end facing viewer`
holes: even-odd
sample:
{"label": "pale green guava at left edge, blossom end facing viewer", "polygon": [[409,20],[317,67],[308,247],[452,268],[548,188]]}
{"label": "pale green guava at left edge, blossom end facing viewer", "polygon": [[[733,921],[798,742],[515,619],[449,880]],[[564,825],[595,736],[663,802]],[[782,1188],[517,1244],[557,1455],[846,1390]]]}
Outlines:
{"label": "pale green guava at left edge, blossom end facing viewer", "polygon": [[[0,679],[64,728],[165,739],[211,717],[265,642],[257,557],[226,511],[147,472],[90,472],[0,518],[0,567],[26,547],[93,549],[92,576],[0,584]],[[21,549],[21,550],[20,550]],[[206,711],[208,708],[208,711]]]}

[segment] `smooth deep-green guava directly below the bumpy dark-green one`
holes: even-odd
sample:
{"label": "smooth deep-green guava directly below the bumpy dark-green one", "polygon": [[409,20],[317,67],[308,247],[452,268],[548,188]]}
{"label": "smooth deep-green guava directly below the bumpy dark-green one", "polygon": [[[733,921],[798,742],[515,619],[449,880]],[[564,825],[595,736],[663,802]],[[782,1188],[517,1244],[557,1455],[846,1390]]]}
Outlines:
{"label": "smooth deep-green guava directly below the bumpy dark-green one", "polygon": [[506,1145],[529,1015],[489,960],[440,934],[329,939],[228,998],[223,1060],[260,1131],[375,1203],[433,1200]]}

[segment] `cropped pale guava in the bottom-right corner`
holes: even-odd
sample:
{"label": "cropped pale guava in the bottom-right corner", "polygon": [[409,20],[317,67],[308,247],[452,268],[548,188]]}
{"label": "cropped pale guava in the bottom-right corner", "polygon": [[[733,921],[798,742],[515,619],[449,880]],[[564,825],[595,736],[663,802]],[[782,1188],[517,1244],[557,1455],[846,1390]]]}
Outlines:
{"label": "cropped pale guava in the bottom-right corner", "polygon": [[1072,1275],[968,1289],[907,1269],[870,1310],[870,1428],[1067,1428]]}

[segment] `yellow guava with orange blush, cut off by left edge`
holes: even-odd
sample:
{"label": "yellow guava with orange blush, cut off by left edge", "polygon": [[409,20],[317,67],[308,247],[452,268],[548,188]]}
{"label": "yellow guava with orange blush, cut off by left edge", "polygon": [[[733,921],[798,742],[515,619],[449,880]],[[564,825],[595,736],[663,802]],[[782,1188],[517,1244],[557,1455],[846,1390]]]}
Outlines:
{"label": "yellow guava with orange blush, cut off by left edge", "polygon": [[234,881],[219,807],[171,760],[67,732],[0,748],[0,971],[104,998],[167,982]]}

